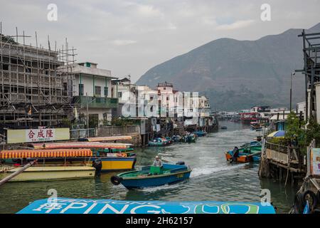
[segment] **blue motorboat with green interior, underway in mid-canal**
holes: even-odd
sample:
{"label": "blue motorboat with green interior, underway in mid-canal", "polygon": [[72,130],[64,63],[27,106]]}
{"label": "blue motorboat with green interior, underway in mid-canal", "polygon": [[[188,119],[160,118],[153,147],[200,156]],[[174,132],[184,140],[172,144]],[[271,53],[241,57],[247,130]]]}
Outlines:
{"label": "blue motorboat with green interior, underway in mid-canal", "polygon": [[111,177],[114,185],[120,183],[127,189],[155,187],[169,185],[190,177],[191,168],[184,165],[184,162],[177,162],[176,165],[164,164],[163,167],[146,166],[142,170],[122,172]]}

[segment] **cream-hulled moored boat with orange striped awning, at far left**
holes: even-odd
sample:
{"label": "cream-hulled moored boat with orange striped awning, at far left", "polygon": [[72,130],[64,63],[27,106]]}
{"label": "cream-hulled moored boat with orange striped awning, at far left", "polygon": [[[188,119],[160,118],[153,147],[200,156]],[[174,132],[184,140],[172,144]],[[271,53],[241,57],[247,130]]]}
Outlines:
{"label": "cream-hulled moored boat with orange striped awning, at far left", "polygon": [[[4,165],[0,167],[0,178],[3,179],[17,172],[26,165],[30,160],[41,158],[55,159],[67,157],[88,157],[92,155],[91,150],[2,150],[0,159],[4,161]],[[9,162],[11,161],[11,162]],[[20,163],[16,163],[20,162]],[[21,181],[40,181],[40,180],[70,180],[79,178],[95,177],[95,167],[88,166],[84,160],[82,164],[70,165],[67,162],[47,163],[38,162],[32,167],[28,167],[21,174],[12,178],[11,182]]]}

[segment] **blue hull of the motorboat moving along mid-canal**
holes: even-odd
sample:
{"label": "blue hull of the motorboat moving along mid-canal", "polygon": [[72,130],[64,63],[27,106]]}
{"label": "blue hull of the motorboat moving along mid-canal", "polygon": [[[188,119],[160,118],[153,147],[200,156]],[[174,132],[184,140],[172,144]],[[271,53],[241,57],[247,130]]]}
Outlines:
{"label": "blue hull of the motorboat moving along mid-canal", "polygon": [[156,187],[161,185],[170,185],[176,182],[181,182],[190,177],[191,170],[184,172],[171,173],[168,175],[152,175],[144,178],[128,178],[122,180],[122,185],[127,189],[143,188],[143,187]]}

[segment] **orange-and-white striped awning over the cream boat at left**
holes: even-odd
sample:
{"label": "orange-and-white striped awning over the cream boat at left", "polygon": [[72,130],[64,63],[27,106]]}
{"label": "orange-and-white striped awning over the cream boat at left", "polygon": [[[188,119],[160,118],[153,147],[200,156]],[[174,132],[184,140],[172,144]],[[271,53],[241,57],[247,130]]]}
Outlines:
{"label": "orange-and-white striped awning over the cream boat at left", "polygon": [[90,157],[90,149],[79,150],[1,150],[0,158],[40,158],[40,157]]}

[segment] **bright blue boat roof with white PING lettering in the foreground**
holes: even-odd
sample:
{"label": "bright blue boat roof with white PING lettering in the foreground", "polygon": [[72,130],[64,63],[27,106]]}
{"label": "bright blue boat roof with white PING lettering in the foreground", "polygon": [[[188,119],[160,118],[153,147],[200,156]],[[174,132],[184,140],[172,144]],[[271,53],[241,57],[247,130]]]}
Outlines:
{"label": "bright blue boat roof with white PING lettering in the foreground", "polygon": [[112,199],[39,199],[18,214],[275,214],[261,202],[163,202]]}

